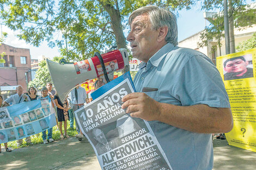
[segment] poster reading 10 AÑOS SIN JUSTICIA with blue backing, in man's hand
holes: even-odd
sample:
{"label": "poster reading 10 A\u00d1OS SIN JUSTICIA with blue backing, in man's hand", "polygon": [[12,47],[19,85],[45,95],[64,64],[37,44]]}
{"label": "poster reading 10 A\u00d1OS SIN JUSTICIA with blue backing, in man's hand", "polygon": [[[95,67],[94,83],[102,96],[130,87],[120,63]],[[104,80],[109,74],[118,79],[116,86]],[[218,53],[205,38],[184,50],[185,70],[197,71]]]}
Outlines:
{"label": "poster reading 10 A\u00d1OS SIN JUSTICIA with blue backing, in man's hand", "polygon": [[121,98],[134,89],[130,73],[100,87],[75,112],[79,127],[104,170],[172,169],[148,122],[121,109]]}

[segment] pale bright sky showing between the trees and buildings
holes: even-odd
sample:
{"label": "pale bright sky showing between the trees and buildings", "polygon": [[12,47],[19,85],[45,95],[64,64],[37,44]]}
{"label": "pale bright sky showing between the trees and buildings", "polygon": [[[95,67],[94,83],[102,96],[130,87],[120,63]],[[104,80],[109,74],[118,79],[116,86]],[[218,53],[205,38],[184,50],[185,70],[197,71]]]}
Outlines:
{"label": "pale bright sky showing between the trees and buildings", "polygon": [[[250,1],[247,1],[248,3]],[[178,11],[178,41],[184,40],[187,37],[196,34],[205,28],[205,24],[209,25],[208,21],[205,21],[203,17],[203,12],[200,10],[200,6],[196,5],[191,10],[181,10]],[[4,43],[13,47],[18,48],[29,48],[31,52],[31,58],[37,59],[38,56],[45,55],[48,58],[53,58],[54,56],[59,56],[60,53],[58,48],[50,48],[47,46],[47,42],[41,43],[39,47],[34,47],[33,45],[27,44],[24,40],[19,40],[15,35],[17,33],[13,32],[4,25],[1,25],[2,32],[8,33],[7,39]],[[1,31],[1,28],[0,28]],[[124,33],[127,36],[127,32]],[[60,38],[61,35],[56,35]]]}

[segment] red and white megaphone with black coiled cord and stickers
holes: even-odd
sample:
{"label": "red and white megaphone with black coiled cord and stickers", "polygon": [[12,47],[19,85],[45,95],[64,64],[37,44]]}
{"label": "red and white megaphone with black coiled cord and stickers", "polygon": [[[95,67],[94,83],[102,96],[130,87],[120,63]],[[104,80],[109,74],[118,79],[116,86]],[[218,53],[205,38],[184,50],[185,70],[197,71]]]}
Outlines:
{"label": "red and white megaphone with black coiled cord and stickers", "polygon": [[[114,71],[129,66],[126,48],[120,48],[102,55],[95,54],[96,56],[93,58],[69,64],[58,64],[46,59],[54,87],[62,102],[77,85],[97,77],[103,77],[104,73],[105,79],[108,79],[109,75],[113,77]],[[106,75],[108,76],[106,77]]]}

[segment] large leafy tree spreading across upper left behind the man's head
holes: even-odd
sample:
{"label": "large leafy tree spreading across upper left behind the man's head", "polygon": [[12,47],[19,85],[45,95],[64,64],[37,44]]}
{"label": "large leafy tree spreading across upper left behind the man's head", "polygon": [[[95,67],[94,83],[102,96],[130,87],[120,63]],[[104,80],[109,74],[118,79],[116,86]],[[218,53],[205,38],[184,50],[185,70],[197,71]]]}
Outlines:
{"label": "large leafy tree spreading across upper left behind the man's head", "polygon": [[[170,10],[190,9],[191,0],[0,0],[1,16],[20,39],[39,46],[44,40],[58,46],[68,60],[82,60],[96,51],[106,52],[117,45],[126,47],[127,17],[139,7],[153,4]],[[60,34],[62,33],[62,34]],[[56,36],[62,35],[62,40]]]}

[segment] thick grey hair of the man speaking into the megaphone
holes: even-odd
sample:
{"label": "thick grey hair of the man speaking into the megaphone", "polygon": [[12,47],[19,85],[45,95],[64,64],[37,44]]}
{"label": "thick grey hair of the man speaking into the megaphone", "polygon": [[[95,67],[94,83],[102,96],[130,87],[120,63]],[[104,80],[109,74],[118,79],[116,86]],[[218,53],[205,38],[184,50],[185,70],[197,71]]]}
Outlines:
{"label": "thick grey hair of the man speaking into the megaphone", "polygon": [[166,42],[170,42],[174,46],[178,45],[178,26],[176,16],[173,14],[173,12],[154,5],[142,7],[132,12],[129,17],[129,24],[131,25],[134,18],[142,14],[149,15],[152,30],[157,30],[161,27],[167,26],[168,33],[165,39]]}

